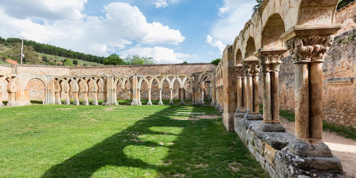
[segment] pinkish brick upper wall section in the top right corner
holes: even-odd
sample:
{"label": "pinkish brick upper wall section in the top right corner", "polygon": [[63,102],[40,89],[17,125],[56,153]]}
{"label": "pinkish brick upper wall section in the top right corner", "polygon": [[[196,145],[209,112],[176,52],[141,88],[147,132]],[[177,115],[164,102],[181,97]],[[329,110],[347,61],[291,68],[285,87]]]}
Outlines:
{"label": "pinkish brick upper wall section in the top right corner", "polygon": [[356,28],[356,1],[351,2],[349,5],[337,11],[335,19],[336,23],[342,24],[341,30],[339,30],[336,35],[341,35]]}

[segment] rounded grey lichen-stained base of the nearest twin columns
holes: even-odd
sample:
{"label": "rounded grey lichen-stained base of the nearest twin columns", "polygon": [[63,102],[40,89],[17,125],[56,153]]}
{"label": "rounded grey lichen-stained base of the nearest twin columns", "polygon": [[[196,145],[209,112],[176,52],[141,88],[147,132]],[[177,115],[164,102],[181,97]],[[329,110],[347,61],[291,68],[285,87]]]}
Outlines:
{"label": "rounded grey lichen-stained base of the nearest twin columns", "polygon": [[295,138],[290,141],[286,148],[298,156],[312,156],[312,157],[333,157],[330,148],[323,141],[314,141],[309,143],[307,141]]}

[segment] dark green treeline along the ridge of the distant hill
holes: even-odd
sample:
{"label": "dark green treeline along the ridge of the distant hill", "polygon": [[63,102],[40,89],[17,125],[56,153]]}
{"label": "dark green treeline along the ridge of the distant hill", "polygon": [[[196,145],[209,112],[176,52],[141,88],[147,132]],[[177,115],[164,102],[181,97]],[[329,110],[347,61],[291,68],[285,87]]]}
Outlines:
{"label": "dark green treeline along the ridge of the distant hill", "polygon": [[[21,43],[21,41],[22,40],[20,38],[5,39],[5,38],[0,37],[0,44],[3,44],[7,47],[11,47],[12,45],[15,45],[16,43]],[[27,46],[32,46],[35,49],[35,51],[38,53],[51,54],[54,56],[61,56],[61,57],[78,59],[78,60],[82,60],[82,61],[89,61],[89,62],[95,62],[95,63],[101,63],[101,64],[103,64],[104,60],[105,60],[105,57],[99,57],[99,56],[94,56],[91,54],[75,52],[75,51],[60,48],[57,46],[38,43],[35,41],[24,40],[23,44],[27,45]]]}

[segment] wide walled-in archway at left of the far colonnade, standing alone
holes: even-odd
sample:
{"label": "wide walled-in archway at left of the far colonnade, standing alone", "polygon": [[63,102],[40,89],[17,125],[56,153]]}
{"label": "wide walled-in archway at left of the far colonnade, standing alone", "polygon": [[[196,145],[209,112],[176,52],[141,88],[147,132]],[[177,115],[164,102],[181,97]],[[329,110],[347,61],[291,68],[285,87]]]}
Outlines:
{"label": "wide walled-in archway at left of the far colonnade, standing alone", "polygon": [[27,82],[25,89],[26,101],[25,105],[45,104],[46,102],[46,86],[43,80],[39,78],[33,78]]}

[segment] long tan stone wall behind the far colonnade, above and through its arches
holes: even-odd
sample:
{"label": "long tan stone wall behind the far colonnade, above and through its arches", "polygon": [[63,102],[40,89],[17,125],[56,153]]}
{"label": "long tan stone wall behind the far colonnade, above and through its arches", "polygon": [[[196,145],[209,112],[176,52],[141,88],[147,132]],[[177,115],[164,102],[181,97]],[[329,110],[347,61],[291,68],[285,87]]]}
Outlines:
{"label": "long tan stone wall behind the far colonnade, above and through its arches", "polygon": [[[31,73],[34,76],[41,75],[132,75],[132,74],[140,74],[140,75],[159,75],[159,74],[192,74],[195,72],[204,72],[208,70],[214,70],[215,65],[210,63],[191,63],[191,64],[155,64],[155,65],[142,65],[142,66],[90,66],[90,67],[65,67],[65,66],[39,66],[39,65],[18,65],[16,67],[17,73]],[[0,73],[10,74],[11,67],[8,66],[0,66]],[[152,100],[159,99],[159,90],[156,82],[153,83],[151,96]],[[4,83],[3,90],[3,100],[6,101],[8,99],[8,94],[6,91],[6,84]],[[188,81],[186,82],[186,87],[188,86]],[[43,84],[37,80],[31,80],[28,83],[28,89],[30,89],[30,100],[43,100]],[[130,99],[130,91],[126,89],[121,89],[121,85],[117,86],[117,99],[119,100],[129,100]],[[176,82],[173,85],[173,99],[180,100],[178,97],[179,90],[179,82]],[[192,99],[192,91],[185,91],[185,99]],[[71,98],[73,98],[73,93],[70,94]],[[168,86],[168,82],[163,83],[162,88],[162,99],[170,99],[170,90]],[[206,98],[210,98],[208,93],[205,93]],[[83,93],[79,92],[79,96],[82,99]],[[64,99],[64,92],[61,93],[61,98]],[[89,92],[89,99],[93,98],[93,93]],[[99,83],[99,92],[98,99],[103,99],[103,93],[101,92],[101,83]],[[141,91],[141,99],[148,99],[148,89],[145,82],[142,84]]]}

